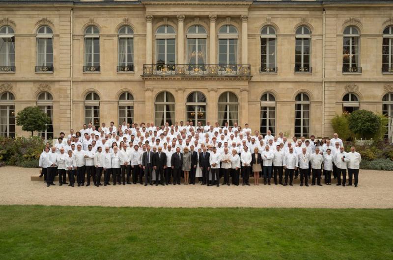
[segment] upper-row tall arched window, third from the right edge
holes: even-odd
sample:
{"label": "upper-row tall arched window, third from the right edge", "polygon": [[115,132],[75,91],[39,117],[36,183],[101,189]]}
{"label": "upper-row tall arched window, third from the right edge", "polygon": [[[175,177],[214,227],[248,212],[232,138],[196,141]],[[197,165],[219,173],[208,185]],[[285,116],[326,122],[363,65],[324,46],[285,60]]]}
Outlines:
{"label": "upper-row tall arched window, third from the right edge", "polygon": [[295,72],[312,72],[310,54],[311,31],[306,26],[300,26],[295,36]]}

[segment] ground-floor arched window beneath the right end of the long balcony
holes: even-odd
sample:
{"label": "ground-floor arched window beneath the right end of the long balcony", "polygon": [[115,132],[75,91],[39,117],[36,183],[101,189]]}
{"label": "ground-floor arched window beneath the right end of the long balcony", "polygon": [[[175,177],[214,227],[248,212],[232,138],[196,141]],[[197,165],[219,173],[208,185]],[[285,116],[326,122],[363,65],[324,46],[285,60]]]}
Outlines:
{"label": "ground-floor arched window beneath the right end of the long balcony", "polygon": [[229,126],[233,126],[239,120],[239,101],[232,92],[224,92],[218,99],[218,122],[221,127],[228,122]]}

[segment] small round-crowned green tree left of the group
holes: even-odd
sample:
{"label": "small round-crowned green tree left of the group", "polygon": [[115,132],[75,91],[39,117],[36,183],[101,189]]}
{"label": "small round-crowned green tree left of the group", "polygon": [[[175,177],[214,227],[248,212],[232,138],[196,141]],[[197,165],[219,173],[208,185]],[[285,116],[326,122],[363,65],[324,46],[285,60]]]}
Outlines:
{"label": "small round-crowned green tree left of the group", "polygon": [[51,119],[38,106],[27,106],[16,116],[16,125],[31,132],[31,136],[34,131],[45,131],[50,122]]}

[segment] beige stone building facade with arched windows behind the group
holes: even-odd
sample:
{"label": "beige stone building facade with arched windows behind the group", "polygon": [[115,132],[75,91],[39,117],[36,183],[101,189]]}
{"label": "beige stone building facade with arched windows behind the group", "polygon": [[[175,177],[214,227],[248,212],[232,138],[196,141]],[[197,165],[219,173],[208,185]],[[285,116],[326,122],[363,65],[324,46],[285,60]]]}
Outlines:
{"label": "beige stone building facade with arched windows behind the group", "polygon": [[1,135],[28,135],[29,105],[47,138],[124,119],[322,137],[343,110],[393,113],[388,0],[0,0],[0,39]]}

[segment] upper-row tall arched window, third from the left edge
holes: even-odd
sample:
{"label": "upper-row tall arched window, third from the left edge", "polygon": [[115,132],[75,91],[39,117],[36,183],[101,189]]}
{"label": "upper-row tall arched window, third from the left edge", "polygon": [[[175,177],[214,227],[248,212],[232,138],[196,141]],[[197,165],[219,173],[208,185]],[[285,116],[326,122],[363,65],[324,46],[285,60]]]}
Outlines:
{"label": "upper-row tall arched window, third from the left edge", "polygon": [[100,31],[88,26],[84,32],[84,72],[100,71]]}

